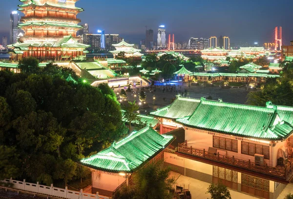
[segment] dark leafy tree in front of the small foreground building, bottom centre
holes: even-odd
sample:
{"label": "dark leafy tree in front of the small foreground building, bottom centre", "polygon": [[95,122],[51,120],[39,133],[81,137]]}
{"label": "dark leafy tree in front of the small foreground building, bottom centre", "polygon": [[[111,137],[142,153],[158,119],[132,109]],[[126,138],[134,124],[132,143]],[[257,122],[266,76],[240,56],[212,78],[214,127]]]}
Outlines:
{"label": "dark leafy tree in front of the small foreground building, bottom centre", "polygon": [[174,179],[163,162],[151,163],[133,175],[134,185],[118,190],[113,199],[172,199]]}

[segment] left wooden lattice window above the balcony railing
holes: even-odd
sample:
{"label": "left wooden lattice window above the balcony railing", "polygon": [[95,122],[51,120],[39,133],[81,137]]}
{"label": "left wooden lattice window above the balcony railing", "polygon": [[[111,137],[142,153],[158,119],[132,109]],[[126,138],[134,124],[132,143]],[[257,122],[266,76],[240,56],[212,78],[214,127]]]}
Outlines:
{"label": "left wooden lattice window above the balcony railing", "polygon": [[214,148],[224,149],[227,151],[238,152],[238,141],[236,139],[223,138],[219,136],[213,136]]}

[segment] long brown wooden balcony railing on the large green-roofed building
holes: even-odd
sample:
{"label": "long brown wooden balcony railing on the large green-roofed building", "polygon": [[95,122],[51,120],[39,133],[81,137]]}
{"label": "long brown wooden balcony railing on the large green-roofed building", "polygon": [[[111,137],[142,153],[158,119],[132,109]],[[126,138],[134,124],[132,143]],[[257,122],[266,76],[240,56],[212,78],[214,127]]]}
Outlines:
{"label": "long brown wooden balcony railing on the large green-roofed building", "polygon": [[272,177],[277,177],[281,179],[290,179],[293,174],[293,162],[289,162],[284,167],[271,167],[267,164],[259,164],[252,162],[249,160],[237,159],[234,156],[224,156],[219,153],[214,154],[209,151],[194,149],[192,146],[188,147],[187,143],[178,144],[178,152],[183,154],[188,154],[195,157],[200,157],[204,159],[209,159],[217,162],[221,162],[224,164],[228,164],[231,166],[236,166],[239,168],[247,169],[253,172],[258,172],[266,175],[270,175]]}

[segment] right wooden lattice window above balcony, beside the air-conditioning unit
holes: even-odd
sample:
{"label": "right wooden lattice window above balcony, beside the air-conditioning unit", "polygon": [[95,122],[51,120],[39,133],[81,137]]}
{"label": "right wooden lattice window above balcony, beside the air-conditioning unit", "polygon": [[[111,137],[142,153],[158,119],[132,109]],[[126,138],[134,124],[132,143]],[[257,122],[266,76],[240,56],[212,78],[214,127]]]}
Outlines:
{"label": "right wooden lattice window above balcony, beside the air-conditioning unit", "polygon": [[254,154],[261,154],[264,155],[265,159],[270,159],[270,146],[242,141],[241,153],[249,156],[254,156]]}

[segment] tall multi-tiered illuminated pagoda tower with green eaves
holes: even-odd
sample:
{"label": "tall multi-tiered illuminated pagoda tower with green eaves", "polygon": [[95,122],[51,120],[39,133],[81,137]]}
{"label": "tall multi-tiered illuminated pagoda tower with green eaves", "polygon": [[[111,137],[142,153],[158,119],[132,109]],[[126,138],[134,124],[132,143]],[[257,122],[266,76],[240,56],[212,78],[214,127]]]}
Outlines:
{"label": "tall multi-tiered illuminated pagoda tower with green eaves", "polygon": [[71,59],[84,56],[89,45],[79,43],[76,32],[82,28],[77,14],[84,11],[75,7],[77,0],[20,0],[19,28],[24,36],[9,45],[13,58]]}

